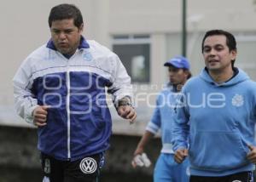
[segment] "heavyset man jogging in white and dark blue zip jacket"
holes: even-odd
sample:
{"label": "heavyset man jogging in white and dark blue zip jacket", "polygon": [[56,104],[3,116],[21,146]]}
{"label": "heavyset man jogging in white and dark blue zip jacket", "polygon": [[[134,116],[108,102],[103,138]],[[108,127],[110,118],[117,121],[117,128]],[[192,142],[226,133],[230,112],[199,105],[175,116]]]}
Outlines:
{"label": "heavyset man jogging in white and dark blue zip jacket", "polygon": [[14,77],[15,109],[38,127],[44,182],[96,182],[108,150],[112,121],[105,88],[120,117],[133,122],[131,78],[119,57],[82,37],[80,10],[51,9],[48,43]]}

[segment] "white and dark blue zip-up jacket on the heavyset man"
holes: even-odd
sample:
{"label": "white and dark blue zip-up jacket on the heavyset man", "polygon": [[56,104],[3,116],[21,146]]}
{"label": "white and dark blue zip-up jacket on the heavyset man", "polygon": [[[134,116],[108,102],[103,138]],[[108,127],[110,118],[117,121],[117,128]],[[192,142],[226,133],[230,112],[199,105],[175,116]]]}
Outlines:
{"label": "white and dark blue zip-up jacket on the heavyset man", "polygon": [[52,41],[36,49],[13,79],[15,110],[26,122],[38,105],[50,105],[47,125],[38,128],[38,149],[59,160],[77,160],[109,147],[112,120],[105,88],[113,103],[131,97],[131,78],[119,57],[81,37],[69,59]]}

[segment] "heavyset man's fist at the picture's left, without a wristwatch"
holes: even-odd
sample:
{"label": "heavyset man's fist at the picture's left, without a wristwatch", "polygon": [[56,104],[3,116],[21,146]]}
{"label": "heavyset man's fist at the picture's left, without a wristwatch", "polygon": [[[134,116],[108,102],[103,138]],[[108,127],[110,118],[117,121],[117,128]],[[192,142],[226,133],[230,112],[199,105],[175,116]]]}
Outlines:
{"label": "heavyset man's fist at the picture's left, without a wristwatch", "polygon": [[46,122],[47,122],[48,108],[49,108],[48,105],[39,105],[38,107],[36,107],[36,109],[34,109],[33,111],[34,125],[38,127],[43,127],[47,124]]}

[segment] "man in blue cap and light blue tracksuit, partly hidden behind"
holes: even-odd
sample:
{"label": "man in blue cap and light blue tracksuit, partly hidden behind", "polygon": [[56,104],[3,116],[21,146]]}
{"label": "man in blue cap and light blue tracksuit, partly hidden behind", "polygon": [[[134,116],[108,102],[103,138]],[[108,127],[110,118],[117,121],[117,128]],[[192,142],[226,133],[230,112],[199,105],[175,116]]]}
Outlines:
{"label": "man in blue cap and light blue tracksuit, partly hidden behind", "polygon": [[154,182],[189,181],[188,160],[183,164],[174,161],[172,151],[172,123],[177,96],[183,84],[191,77],[189,61],[176,56],[165,63],[169,71],[169,80],[157,97],[153,117],[148,122],[145,133],[134,152],[133,166],[137,166],[137,156],[142,155],[148,141],[161,130],[162,150],[154,168]]}

